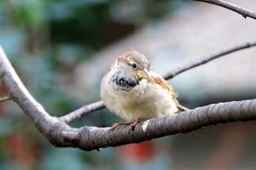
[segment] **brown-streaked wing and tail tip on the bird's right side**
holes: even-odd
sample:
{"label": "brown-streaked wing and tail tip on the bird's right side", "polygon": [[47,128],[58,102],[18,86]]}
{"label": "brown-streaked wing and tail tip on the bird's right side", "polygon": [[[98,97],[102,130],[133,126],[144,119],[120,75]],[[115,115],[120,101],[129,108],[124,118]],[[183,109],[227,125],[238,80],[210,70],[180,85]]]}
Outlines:
{"label": "brown-streaked wing and tail tip on the bird's right side", "polygon": [[182,106],[179,103],[179,101],[177,100],[178,94],[172,88],[172,85],[168,81],[165,81],[161,75],[159,75],[158,73],[154,72],[154,70],[150,71],[150,76],[149,76],[148,81],[152,82],[152,83],[156,83],[156,84],[160,85],[163,89],[166,89],[170,93],[170,95],[172,96],[173,100],[175,101],[176,106],[181,111],[188,111],[188,110],[190,110],[189,108],[187,108],[185,106]]}

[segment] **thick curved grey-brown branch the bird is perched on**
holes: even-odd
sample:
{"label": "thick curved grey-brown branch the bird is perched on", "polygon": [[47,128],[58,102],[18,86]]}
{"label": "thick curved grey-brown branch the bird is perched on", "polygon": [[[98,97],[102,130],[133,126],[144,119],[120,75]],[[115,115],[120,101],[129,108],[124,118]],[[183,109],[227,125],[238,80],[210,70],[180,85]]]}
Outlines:
{"label": "thick curved grey-brown branch the bird is perched on", "polygon": [[57,147],[93,150],[151,140],[179,132],[190,132],[207,125],[256,119],[256,99],[202,106],[177,115],[147,120],[137,124],[134,131],[128,126],[115,129],[84,126],[72,128],[50,116],[22,84],[0,47],[0,75],[4,85],[38,130]]}

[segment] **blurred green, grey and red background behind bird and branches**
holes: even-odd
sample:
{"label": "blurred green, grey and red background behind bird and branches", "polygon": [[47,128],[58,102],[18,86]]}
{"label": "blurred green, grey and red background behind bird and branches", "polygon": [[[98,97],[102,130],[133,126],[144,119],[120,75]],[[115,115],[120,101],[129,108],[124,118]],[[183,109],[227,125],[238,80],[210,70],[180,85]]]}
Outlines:
{"label": "blurred green, grey and red background behind bird and branches", "polygon": [[[229,1],[256,12],[252,0]],[[157,72],[255,40],[256,21],[212,4],[181,0],[3,0],[0,44],[51,115],[100,99],[115,58],[145,54]],[[217,59],[170,80],[194,108],[255,98],[256,49]],[[2,86],[0,94],[6,91]],[[0,104],[0,169],[255,169],[256,125],[226,123],[140,144],[86,152],[58,149],[13,101]],[[110,126],[107,109],[72,124]]]}

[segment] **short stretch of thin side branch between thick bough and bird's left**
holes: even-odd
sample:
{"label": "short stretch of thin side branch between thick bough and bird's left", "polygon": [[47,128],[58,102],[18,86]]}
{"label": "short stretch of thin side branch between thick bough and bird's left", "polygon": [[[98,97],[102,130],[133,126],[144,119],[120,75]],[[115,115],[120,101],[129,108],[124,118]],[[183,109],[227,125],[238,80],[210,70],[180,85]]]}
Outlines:
{"label": "short stretch of thin side branch between thick bough and bird's left", "polygon": [[86,105],[86,106],[82,106],[80,108],[78,108],[77,110],[75,110],[74,112],[71,112],[68,115],[64,115],[62,117],[60,117],[59,119],[64,122],[64,123],[72,123],[73,121],[75,121],[75,119],[79,119],[80,117],[84,116],[84,115],[88,115],[96,110],[100,110],[102,108],[104,108],[104,103],[102,100],[94,102],[92,104]]}

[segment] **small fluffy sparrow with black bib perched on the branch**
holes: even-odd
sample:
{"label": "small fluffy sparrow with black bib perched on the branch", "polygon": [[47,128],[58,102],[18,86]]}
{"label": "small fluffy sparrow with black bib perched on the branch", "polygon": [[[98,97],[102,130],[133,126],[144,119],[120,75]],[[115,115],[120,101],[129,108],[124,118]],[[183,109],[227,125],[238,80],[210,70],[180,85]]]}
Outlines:
{"label": "small fluffy sparrow with black bib perched on the branch", "polygon": [[101,98],[105,106],[128,121],[114,123],[111,130],[120,124],[131,124],[134,129],[141,121],[188,110],[177,97],[171,84],[154,72],[146,56],[137,51],[120,55],[102,78]]}

